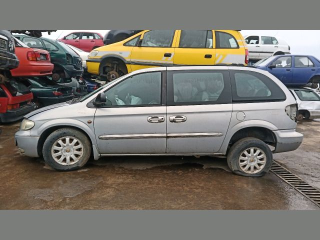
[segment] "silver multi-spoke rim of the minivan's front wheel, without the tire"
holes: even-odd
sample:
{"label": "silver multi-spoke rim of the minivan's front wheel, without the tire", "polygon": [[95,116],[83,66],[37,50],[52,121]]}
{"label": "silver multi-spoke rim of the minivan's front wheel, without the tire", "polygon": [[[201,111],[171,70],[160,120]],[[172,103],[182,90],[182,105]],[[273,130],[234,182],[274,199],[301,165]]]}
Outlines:
{"label": "silver multi-spoke rim of the minivan's front wheel, without the tire", "polygon": [[83,145],[73,136],[63,136],[57,139],[51,147],[51,156],[61,165],[72,165],[83,155]]}

